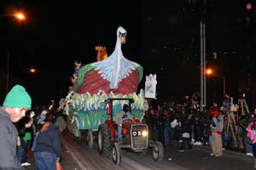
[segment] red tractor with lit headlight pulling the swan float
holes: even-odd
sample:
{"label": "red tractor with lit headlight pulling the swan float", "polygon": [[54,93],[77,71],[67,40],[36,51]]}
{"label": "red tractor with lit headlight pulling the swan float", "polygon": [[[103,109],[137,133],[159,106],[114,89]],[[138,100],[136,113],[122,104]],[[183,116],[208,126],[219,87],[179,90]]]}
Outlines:
{"label": "red tractor with lit headlight pulling the swan float", "polygon": [[[164,157],[163,144],[160,141],[148,139],[148,125],[140,122],[137,117],[133,120],[126,120],[122,123],[122,141],[117,139],[117,123],[113,121],[114,100],[126,100],[128,105],[133,99],[108,99],[106,108],[109,114],[108,120],[102,123],[98,129],[98,150],[101,156],[111,156],[113,162],[119,165],[122,158],[122,150],[143,152],[152,149],[153,159],[156,162],[162,161]],[[132,110],[131,110],[132,115]]]}

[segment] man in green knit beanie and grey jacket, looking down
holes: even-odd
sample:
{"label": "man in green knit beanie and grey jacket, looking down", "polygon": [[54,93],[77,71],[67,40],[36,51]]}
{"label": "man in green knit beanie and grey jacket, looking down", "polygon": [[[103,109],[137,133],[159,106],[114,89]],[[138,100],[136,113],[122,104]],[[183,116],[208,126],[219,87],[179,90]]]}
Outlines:
{"label": "man in green knit beanie and grey jacket, looking down", "polygon": [[0,169],[22,169],[16,156],[18,132],[13,122],[19,122],[31,105],[26,89],[15,85],[0,107]]}

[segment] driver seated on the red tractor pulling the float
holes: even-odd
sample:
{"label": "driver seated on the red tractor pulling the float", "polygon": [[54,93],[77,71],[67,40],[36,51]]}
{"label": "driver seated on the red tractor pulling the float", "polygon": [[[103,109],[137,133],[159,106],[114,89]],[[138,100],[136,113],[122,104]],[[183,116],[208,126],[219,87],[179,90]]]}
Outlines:
{"label": "driver seated on the red tractor pulling the float", "polygon": [[130,106],[129,105],[123,105],[123,111],[118,112],[115,115],[115,122],[118,125],[118,139],[119,142],[122,141],[123,135],[122,135],[122,122],[125,120],[131,120],[133,121],[133,117],[131,116],[130,112]]}

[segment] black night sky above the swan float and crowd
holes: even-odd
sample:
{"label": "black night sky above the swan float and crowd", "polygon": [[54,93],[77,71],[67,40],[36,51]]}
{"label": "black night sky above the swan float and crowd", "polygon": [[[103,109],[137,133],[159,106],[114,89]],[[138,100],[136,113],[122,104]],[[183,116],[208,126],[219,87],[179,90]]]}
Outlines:
{"label": "black night sky above the swan float and crowd", "polygon": [[[247,86],[241,72],[255,80],[256,4],[250,2],[251,11],[242,0],[1,1],[0,14],[23,9],[27,17],[22,23],[0,17],[1,69],[6,71],[9,52],[10,75],[14,82],[22,82],[35,105],[64,98],[73,61],[95,62],[99,45],[112,54],[116,30],[123,26],[128,32],[123,54],[143,65],[144,77],[157,74],[158,99],[165,101],[199,91],[199,23],[204,20],[207,66],[226,76],[227,89],[235,95],[239,86]],[[29,74],[31,67],[38,73]],[[4,80],[1,77],[3,89]],[[144,78],[142,88],[143,83]],[[208,96],[221,97],[221,84],[220,79],[209,78]]]}

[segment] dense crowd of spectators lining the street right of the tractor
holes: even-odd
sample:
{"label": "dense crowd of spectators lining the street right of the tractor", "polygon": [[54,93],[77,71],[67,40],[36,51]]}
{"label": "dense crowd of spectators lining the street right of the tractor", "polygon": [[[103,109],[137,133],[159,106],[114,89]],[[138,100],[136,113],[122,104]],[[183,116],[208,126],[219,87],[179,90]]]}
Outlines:
{"label": "dense crowd of spectators lining the street right of the tractor", "polygon": [[205,145],[211,147],[211,156],[223,156],[223,150],[228,149],[256,158],[254,113],[239,113],[230,96],[221,104],[213,103],[205,111],[200,111],[198,103],[197,96],[192,96],[180,104],[150,105],[143,117],[150,138],[159,140],[164,146],[170,139],[177,139],[180,152],[192,151],[193,145]]}

